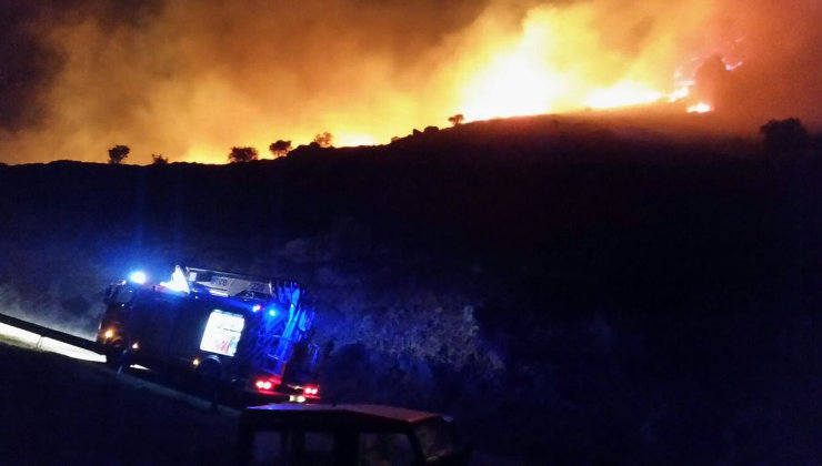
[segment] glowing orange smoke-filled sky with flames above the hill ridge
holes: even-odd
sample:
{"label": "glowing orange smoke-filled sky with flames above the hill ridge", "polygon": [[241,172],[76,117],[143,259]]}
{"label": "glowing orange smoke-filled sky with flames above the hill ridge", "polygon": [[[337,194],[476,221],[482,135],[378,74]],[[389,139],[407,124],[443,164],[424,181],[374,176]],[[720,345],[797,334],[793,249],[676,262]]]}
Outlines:
{"label": "glowing orange smoke-filled sky with flames above the hill ridge", "polygon": [[752,132],[822,122],[815,0],[73,1],[0,19],[16,44],[0,50],[2,162],[126,144],[128,163],[224,163],[235,145],[381,144],[457,113],[668,102]]}

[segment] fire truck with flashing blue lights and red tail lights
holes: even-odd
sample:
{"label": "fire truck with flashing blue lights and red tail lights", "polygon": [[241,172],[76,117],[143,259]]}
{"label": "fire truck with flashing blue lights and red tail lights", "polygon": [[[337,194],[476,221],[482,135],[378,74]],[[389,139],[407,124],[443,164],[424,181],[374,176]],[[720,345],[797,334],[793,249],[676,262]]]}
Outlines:
{"label": "fire truck with flashing blue lights and red tail lights", "polygon": [[273,401],[320,397],[314,311],[297,282],[177,266],[168,282],[133,273],[103,301],[97,342],[113,367],[183,371]]}

